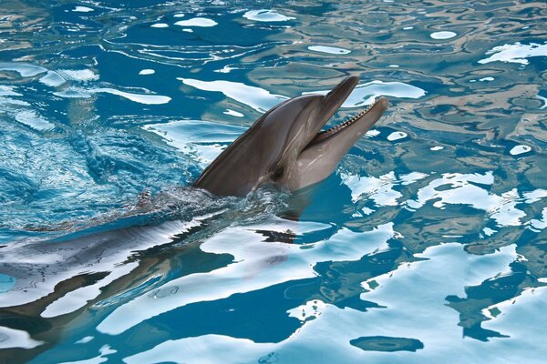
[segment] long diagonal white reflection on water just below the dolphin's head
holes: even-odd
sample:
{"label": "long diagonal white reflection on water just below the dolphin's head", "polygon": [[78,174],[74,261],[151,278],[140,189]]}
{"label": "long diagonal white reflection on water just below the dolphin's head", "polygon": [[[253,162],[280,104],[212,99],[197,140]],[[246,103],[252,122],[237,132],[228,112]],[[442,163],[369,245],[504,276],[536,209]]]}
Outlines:
{"label": "long diagonal white reflection on water just below the dolphin's head", "polygon": [[[282,227],[286,228],[287,225],[293,224],[283,221]],[[185,292],[184,295],[154,299],[154,291],[152,291],[151,295],[140,296],[117,308],[98,325],[98,330],[109,335],[116,335],[138,325],[145,319],[193,302],[227,298],[238,292],[266,288],[287,280],[315,277],[310,265],[312,262],[328,260],[332,257],[362,257],[366,251],[374,250],[393,235],[391,227],[391,224],[387,224],[377,227],[372,232],[361,233],[363,244],[352,248],[348,248],[345,242],[353,233],[341,231],[329,240],[328,246],[322,243],[315,249],[304,250],[296,245],[291,247],[282,243],[256,246],[263,241],[262,235],[239,228],[229,228],[201,245],[201,249],[214,254],[229,251],[234,261],[238,262],[237,264],[219,268],[210,273],[198,273],[174,279],[160,289],[180,287],[179,291]],[[272,229],[272,227],[266,229]],[[233,246],[229,243],[235,237],[238,237],[241,244]],[[257,249],[258,247],[260,249]],[[294,258],[283,259],[282,264],[272,265],[271,259],[280,254],[291,254]],[[284,262],[290,262],[287,263],[290,264],[290,268],[283,264]],[[135,307],[143,307],[142,305],[146,305],[149,309],[135,310]]]}

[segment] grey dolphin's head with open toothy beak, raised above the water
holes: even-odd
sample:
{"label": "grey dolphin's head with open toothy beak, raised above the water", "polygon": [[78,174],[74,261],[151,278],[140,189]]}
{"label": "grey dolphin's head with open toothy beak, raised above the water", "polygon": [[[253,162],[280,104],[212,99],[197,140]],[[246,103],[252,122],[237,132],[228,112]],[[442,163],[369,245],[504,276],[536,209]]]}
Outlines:
{"label": "grey dolphin's head with open toothy beak, raised above the water", "polygon": [[349,76],[327,95],[291,98],[261,116],[207,167],[194,187],[245,196],[274,185],[295,191],[328,177],[387,108],[380,97],[345,123],[321,129],[359,81]]}

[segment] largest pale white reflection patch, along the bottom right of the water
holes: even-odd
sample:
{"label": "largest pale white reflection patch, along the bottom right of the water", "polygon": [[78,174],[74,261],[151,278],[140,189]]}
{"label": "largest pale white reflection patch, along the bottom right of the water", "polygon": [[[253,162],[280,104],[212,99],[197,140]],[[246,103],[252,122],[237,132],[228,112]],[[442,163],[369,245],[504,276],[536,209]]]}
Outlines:
{"label": "largest pale white reflection patch, along the bottom right of the water", "polygon": [[[346,244],[346,247],[350,248],[351,245]],[[527,335],[531,332],[528,327],[522,327],[518,335],[511,335],[511,339],[492,339],[489,342],[462,339],[462,329],[458,325],[459,312],[446,305],[447,296],[465,297],[466,287],[493,277],[500,267],[510,264],[516,255],[514,250],[513,245],[501,248],[493,254],[472,256],[459,244],[428,248],[419,255],[427,260],[402,265],[393,274],[376,278],[379,286],[361,295],[362,299],[376,302],[385,308],[370,308],[364,314],[352,308],[316,306],[315,316],[313,307],[310,309],[307,302],[299,308],[304,309],[304,313],[310,312],[315,319],[306,320],[290,338],[279,342],[253,342],[250,339],[210,334],[164,340],[151,349],[123,360],[128,364],[218,363],[226,361],[226,353],[231,353],[231,362],[408,364],[446,362],[447,358],[464,355],[473,363],[497,362],[500,358],[507,359],[508,362],[522,360],[526,363],[537,363],[538,360],[530,359],[544,357],[547,355],[547,348],[542,345],[542,336]],[[470,270],[470,267],[473,269]],[[182,298],[183,295],[180,296]],[[546,320],[545,315],[542,315],[544,298],[535,298],[534,301],[537,310],[534,310],[533,316],[526,312],[526,304],[521,305],[521,313],[511,317],[512,326],[519,326],[522,316],[538,321],[534,322],[533,332],[545,332]],[[150,307],[156,304],[151,301]],[[142,307],[147,306],[135,306],[133,312],[140,315]],[[294,314],[298,317],[298,311]],[[488,321],[489,325],[495,324],[496,320]],[[503,332],[504,328],[501,324],[499,329]],[[387,353],[363,351],[350,345],[350,340],[363,336],[419,339],[423,342],[424,349],[418,352]],[[321,345],[317,345],[318,342]],[[455,346],[454,343],[458,345]],[[542,351],[540,357],[538,349]]]}

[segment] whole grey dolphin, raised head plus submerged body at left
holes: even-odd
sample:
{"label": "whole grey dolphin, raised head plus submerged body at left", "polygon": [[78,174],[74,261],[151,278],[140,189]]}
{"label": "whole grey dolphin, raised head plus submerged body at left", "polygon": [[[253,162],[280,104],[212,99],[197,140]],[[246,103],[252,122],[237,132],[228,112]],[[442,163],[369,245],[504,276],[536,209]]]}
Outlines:
{"label": "whole grey dolphin, raised head plus submerged body at left", "polygon": [[[387,108],[387,100],[380,97],[345,123],[321,131],[357,82],[357,77],[350,76],[325,96],[298,96],[260,117],[203,171],[194,184],[198,188],[181,189],[177,200],[185,202],[189,221],[120,227],[120,219],[131,221],[155,208],[169,208],[172,200],[164,193],[139,201],[134,211],[115,221],[114,228],[102,221],[102,227],[68,228],[59,231],[57,238],[27,238],[0,249],[0,273],[13,280],[13,287],[0,294],[0,327],[28,331],[37,340],[26,344],[35,349],[6,346],[10,349],[5,349],[5,358],[35,357],[55,345],[62,333],[59,328],[75,322],[96,327],[108,315],[111,302],[141,294],[139,289],[161,287],[169,281],[172,266],[183,264],[201,271],[209,260],[212,266],[229,264],[229,256],[219,261],[216,254],[197,248],[230,225],[215,217],[231,211],[222,198],[201,189],[217,196],[245,196],[268,185],[293,192],[328,177]],[[269,267],[271,262],[264,265]],[[97,292],[74,300],[80,288]]]}

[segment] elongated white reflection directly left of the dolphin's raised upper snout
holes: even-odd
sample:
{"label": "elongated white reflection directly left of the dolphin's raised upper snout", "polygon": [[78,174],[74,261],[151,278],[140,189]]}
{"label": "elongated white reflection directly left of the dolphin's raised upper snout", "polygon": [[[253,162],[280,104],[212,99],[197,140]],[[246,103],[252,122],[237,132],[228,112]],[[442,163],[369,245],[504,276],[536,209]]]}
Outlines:
{"label": "elongated white reflection directly left of the dolphin's raised upper snout", "polygon": [[288,97],[270,94],[263,88],[247,86],[243,83],[232,81],[200,81],[191,78],[177,78],[184,85],[192,86],[203,91],[222,92],[238,102],[253,107],[253,109],[266,112],[273,106],[286,100]]}

